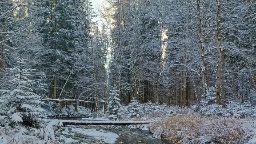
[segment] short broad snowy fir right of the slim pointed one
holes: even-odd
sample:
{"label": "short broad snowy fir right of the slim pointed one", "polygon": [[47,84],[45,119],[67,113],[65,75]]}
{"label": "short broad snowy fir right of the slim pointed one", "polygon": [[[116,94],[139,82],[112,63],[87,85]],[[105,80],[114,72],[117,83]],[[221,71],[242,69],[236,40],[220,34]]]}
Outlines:
{"label": "short broad snowy fir right of the slim pointed one", "polygon": [[140,111],[140,108],[139,108],[140,103],[135,98],[133,98],[133,100],[131,101],[132,102],[126,108],[125,113],[128,115],[129,118],[141,117],[142,112]]}

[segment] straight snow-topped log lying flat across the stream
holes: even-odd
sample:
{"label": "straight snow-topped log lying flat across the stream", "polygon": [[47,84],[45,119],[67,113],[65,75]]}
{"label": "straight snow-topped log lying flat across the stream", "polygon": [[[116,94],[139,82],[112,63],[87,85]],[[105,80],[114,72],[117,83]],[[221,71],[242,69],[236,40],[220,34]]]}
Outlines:
{"label": "straight snow-topped log lying flat across the stream", "polygon": [[85,120],[59,120],[63,126],[66,125],[132,125],[150,124],[156,121],[85,121]]}

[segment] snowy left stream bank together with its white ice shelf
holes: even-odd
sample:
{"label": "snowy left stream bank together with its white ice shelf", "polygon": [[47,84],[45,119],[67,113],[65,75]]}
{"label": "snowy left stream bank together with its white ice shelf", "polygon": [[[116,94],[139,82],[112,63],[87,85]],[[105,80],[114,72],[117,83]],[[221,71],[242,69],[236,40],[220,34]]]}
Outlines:
{"label": "snowy left stream bank together with its white ice shelf", "polygon": [[[114,144],[118,135],[105,130],[97,131],[95,128],[77,128],[77,127],[61,127],[62,124],[58,120],[51,120],[45,128],[26,128],[10,126],[0,127],[0,144],[86,144],[74,140],[64,135],[56,136],[56,132],[62,132],[65,135],[84,135],[90,136],[96,140],[101,140],[106,144]],[[71,128],[68,131],[68,128]]]}

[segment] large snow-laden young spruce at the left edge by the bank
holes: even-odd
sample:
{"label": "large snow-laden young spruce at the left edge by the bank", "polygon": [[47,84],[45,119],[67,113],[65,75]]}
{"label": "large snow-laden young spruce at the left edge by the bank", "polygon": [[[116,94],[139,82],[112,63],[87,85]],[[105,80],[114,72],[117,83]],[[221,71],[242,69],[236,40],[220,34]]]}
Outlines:
{"label": "large snow-laden young spruce at the left edge by the bank", "polygon": [[43,122],[38,119],[45,112],[41,108],[40,96],[33,92],[35,82],[28,77],[32,69],[23,68],[24,59],[16,58],[17,65],[7,68],[12,74],[10,80],[0,90],[0,102],[11,124],[22,123],[31,127],[40,127]]}

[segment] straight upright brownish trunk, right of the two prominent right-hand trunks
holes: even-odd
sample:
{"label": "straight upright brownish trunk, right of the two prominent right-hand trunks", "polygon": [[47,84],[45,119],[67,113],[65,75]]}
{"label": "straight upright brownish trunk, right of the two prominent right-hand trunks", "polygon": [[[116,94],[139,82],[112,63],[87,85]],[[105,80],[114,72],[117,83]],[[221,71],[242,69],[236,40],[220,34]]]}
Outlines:
{"label": "straight upright brownish trunk, right of the two prominent right-hand trunks", "polygon": [[221,5],[222,5],[222,0],[216,0],[218,3],[218,9],[217,9],[217,52],[218,52],[218,57],[217,57],[217,72],[216,72],[216,103],[220,104],[220,77],[221,77],[221,61],[222,61],[222,55],[223,55],[223,50],[220,46],[221,44],[221,28],[220,28],[220,22],[221,22]]}

